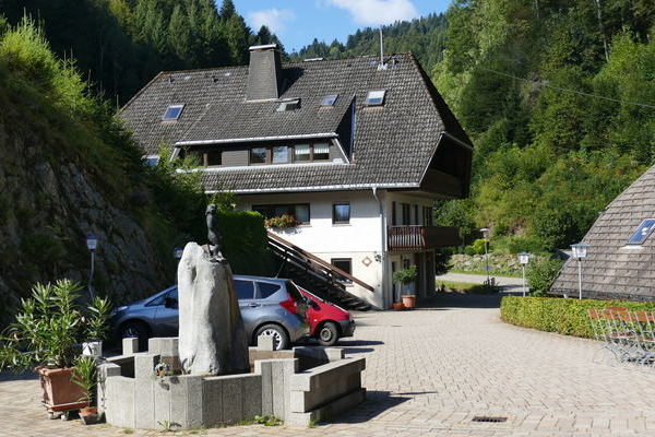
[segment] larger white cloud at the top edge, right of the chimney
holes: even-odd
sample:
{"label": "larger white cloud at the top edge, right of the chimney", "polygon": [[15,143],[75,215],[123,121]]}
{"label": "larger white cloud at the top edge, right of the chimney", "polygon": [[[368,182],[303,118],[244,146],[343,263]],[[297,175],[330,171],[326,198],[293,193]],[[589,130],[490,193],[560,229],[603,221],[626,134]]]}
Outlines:
{"label": "larger white cloud at the top edge, right of the chimney", "polygon": [[330,0],[330,3],[348,11],[356,23],[369,26],[418,17],[409,0]]}

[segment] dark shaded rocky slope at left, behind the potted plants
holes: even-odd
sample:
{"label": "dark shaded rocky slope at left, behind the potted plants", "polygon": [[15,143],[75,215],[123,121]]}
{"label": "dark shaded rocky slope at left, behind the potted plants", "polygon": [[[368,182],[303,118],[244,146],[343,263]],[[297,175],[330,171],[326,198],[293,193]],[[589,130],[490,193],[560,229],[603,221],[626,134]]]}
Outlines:
{"label": "dark shaded rocky slope at left, behind the potted plants", "polygon": [[0,116],[0,330],[35,282],[69,277],[86,284],[87,235],[98,238],[96,291],[115,305],[170,285],[172,244],[164,259],[132,211],[150,199],[138,192],[118,199],[103,184],[102,168],[64,152],[37,122],[23,125],[17,116]]}

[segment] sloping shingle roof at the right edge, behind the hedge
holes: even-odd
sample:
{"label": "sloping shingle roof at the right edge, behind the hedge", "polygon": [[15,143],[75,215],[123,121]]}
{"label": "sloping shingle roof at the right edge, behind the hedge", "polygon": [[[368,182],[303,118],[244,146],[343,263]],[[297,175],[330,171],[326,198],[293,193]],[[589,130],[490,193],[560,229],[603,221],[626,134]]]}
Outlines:
{"label": "sloping shingle roof at the right edge, behind the hedge", "polygon": [[[641,248],[628,238],[645,218],[655,218],[655,167],[616,198],[583,241],[583,297],[653,300],[655,298],[655,235]],[[552,293],[577,295],[577,263],[569,259],[551,287]]]}

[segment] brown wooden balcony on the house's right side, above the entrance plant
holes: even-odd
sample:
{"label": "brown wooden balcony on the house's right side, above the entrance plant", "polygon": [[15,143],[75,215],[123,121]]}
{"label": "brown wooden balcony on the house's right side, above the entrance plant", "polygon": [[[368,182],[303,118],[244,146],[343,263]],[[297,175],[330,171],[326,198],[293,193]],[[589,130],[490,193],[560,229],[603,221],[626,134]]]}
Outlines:
{"label": "brown wooden balcony on the house's right side, above the entrance plant", "polygon": [[456,227],[445,226],[389,226],[388,250],[429,250],[461,244]]}

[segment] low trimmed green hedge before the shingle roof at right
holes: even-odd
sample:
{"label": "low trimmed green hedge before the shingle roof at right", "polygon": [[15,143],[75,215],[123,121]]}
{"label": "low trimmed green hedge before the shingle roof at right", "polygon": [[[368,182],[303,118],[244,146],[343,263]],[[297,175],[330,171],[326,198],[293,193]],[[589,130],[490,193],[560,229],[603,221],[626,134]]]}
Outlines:
{"label": "low trimmed green hedge before the shingle roof at right", "polygon": [[632,311],[655,311],[655,302],[504,296],[500,303],[500,318],[520,327],[593,339],[587,309],[616,306]]}

